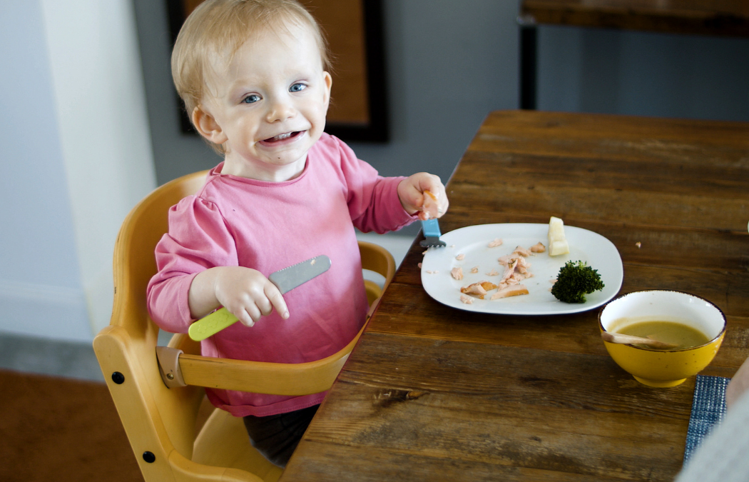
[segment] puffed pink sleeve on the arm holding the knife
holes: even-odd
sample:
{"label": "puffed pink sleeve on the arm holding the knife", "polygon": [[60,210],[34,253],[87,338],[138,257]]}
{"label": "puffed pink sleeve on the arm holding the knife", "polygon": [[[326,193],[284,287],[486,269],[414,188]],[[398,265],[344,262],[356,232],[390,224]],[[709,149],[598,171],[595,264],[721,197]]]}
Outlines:
{"label": "puffed pink sleeve on the arm holding the knife", "polygon": [[156,247],[157,274],[148,283],[151,319],[166,331],[185,333],[192,317],[188,292],[195,275],[236,266],[237,247],[219,208],[187,196],[169,210],[169,232]]}

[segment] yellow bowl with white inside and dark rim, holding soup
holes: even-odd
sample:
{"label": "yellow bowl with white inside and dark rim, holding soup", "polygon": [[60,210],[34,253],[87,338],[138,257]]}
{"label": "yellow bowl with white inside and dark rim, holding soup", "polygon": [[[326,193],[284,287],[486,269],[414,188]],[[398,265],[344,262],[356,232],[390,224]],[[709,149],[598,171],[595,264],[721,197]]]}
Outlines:
{"label": "yellow bowl with white inside and dark rim, holding soup", "polygon": [[707,367],[723,342],[726,316],[709,301],[684,292],[632,292],[610,301],[598,312],[598,328],[670,344],[604,346],[613,361],[638,382],[674,387]]}

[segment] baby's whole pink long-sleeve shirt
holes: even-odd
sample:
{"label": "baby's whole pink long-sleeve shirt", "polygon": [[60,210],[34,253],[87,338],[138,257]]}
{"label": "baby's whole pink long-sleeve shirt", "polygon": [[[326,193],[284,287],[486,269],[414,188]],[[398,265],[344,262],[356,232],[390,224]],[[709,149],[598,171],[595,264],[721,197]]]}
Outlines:
{"label": "baby's whole pink long-sleeve shirt", "polygon": [[[343,142],[324,134],[303,173],[268,182],[210,171],[195,196],[169,211],[169,233],[156,248],[158,273],[148,285],[151,319],[173,333],[194,321],[188,291],[196,274],[246,266],[267,276],[326,254],[330,270],[284,295],[290,317],[273,311],[252,328],[235,323],[201,342],[208,357],[278,363],[325,358],[363,325],[367,300],[354,226],[386,232],[413,222],[398,200],[402,178],[383,178]],[[303,397],[207,389],[214,406],[236,416],[274,415],[320,403]]]}

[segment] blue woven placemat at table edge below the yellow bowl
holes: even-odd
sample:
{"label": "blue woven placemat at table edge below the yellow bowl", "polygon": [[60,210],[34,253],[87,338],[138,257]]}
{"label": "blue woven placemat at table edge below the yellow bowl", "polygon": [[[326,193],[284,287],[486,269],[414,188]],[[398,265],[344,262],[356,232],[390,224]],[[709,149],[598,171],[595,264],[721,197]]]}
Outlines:
{"label": "blue woven placemat at table edge below the yellow bowl", "polygon": [[687,430],[687,447],[684,451],[685,462],[710,433],[712,426],[723,420],[726,413],[726,385],[730,380],[722,376],[697,375]]}

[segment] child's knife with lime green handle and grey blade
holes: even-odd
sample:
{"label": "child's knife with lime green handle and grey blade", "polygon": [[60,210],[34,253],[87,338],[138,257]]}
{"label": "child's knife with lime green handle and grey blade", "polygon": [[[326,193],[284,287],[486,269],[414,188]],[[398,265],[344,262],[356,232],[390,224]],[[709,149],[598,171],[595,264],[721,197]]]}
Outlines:
{"label": "child's knife with lime green handle and grey blade", "polygon": [[[291,289],[312,280],[312,278],[323,274],[325,271],[328,271],[329,268],[330,258],[321,254],[320,256],[315,256],[312,259],[307,259],[296,265],[291,265],[288,268],[283,268],[275,273],[271,273],[268,275],[268,279],[271,283],[278,286],[279,291],[283,295],[285,292],[288,292]],[[192,338],[192,340],[205,340],[207,337],[218,333],[224,328],[234,325],[237,321],[238,319],[236,316],[229,313],[226,308],[221,308],[220,310],[210,313],[210,315],[204,316],[204,318],[198,319],[197,322],[192,323],[187,334],[189,334],[189,337]]]}

